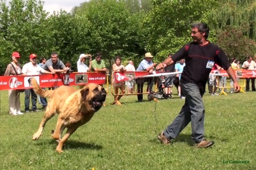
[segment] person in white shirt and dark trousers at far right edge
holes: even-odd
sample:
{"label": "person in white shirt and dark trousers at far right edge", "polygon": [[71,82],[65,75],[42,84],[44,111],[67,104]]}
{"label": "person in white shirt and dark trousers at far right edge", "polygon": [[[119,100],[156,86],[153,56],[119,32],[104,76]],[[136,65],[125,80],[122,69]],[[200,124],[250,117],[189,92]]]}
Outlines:
{"label": "person in white shirt and dark trousers at far right edge", "polygon": [[[247,61],[243,62],[242,65],[243,69],[246,70],[254,70],[256,68],[256,63],[253,61],[253,57],[247,57]],[[249,91],[250,89],[250,80],[251,80],[251,90],[253,90],[253,92],[255,92],[255,78],[246,78],[246,92]]]}

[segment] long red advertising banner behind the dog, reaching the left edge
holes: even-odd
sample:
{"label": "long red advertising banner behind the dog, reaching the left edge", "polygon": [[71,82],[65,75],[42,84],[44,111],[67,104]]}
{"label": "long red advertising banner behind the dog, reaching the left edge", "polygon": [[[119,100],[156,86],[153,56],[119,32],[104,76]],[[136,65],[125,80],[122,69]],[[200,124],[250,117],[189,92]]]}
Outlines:
{"label": "long red advertising banner behind the dog, reaching the left edge", "polygon": [[34,77],[41,88],[61,85],[105,84],[106,73],[43,74],[37,76],[0,76],[0,90],[32,88],[30,78]]}

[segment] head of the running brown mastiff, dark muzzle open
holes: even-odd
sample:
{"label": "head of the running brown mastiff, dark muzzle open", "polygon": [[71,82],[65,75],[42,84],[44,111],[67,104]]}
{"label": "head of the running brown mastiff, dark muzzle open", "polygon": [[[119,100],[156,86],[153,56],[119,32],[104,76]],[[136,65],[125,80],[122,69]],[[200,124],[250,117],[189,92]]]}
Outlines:
{"label": "head of the running brown mastiff, dark muzzle open", "polygon": [[106,99],[106,90],[97,84],[87,84],[81,91],[81,97],[86,107],[91,107],[94,111],[101,109]]}

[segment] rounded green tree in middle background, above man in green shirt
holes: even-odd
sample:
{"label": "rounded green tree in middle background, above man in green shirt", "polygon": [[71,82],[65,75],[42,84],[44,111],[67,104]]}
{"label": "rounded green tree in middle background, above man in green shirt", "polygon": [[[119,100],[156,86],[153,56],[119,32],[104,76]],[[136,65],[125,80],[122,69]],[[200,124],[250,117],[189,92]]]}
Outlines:
{"label": "rounded green tree in middle background, above man in green shirt", "polygon": [[91,24],[87,42],[91,52],[102,52],[109,67],[115,56],[130,58],[141,51],[143,43],[138,39],[143,38],[138,32],[141,32],[139,21],[143,18],[139,14],[131,14],[125,2],[93,0],[75,9],[73,15],[87,18]]}

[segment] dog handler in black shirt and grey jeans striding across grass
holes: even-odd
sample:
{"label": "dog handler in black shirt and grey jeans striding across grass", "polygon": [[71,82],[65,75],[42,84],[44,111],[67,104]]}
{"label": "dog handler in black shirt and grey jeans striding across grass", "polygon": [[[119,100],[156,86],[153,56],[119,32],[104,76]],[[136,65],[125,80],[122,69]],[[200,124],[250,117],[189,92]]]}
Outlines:
{"label": "dog handler in black shirt and grey jeans striding across grass", "polygon": [[229,77],[234,81],[234,89],[239,92],[237,78],[221,48],[210,43],[207,38],[209,27],[205,23],[194,23],[191,25],[191,38],[193,42],[179,49],[173,56],[168,57],[163,63],[157,65],[156,69],[162,69],[167,65],[175,64],[178,60],[186,60],[186,66],[181,74],[181,89],[185,94],[185,104],[181,112],[165,131],[157,138],[163,144],[170,144],[179,133],[191,122],[191,137],[195,147],[207,148],[214,144],[211,140],[204,138],[205,106],[203,106],[203,93],[211,69],[218,64],[227,71]]}

